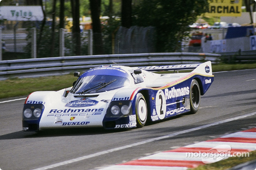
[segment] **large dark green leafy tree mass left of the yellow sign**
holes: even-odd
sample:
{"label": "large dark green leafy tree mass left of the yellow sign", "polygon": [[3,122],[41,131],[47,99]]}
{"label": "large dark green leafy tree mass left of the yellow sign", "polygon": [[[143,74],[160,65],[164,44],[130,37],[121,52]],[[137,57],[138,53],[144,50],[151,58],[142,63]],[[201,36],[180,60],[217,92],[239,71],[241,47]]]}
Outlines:
{"label": "large dark green leafy tree mass left of the yellow sign", "polygon": [[141,0],[133,7],[133,25],[156,27],[157,51],[174,52],[207,7],[207,0]]}

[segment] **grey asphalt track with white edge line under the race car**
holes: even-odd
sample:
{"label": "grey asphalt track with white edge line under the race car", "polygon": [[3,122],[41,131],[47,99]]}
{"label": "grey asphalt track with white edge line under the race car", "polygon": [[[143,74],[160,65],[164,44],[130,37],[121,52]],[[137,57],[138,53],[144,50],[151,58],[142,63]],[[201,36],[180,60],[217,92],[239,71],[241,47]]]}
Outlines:
{"label": "grey asphalt track with white edge line under the race car", "polygon": [[0,168],[100,169],[254,128],[256,69],[214,75],[196,114],[123,131],[97,128],[23,132],[21,112],[26,96],[2,99]]}

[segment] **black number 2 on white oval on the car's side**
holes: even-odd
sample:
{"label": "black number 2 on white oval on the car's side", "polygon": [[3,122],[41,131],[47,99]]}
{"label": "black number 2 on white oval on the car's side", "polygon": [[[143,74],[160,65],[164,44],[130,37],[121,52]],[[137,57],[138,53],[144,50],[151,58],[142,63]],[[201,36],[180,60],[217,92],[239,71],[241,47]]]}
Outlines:
{"label": "black number 2 on white oval on the car's side", "polygon": [[160,119],[164,119],[166,115],[166,100],[162,90],[156,93],[156,113]]}

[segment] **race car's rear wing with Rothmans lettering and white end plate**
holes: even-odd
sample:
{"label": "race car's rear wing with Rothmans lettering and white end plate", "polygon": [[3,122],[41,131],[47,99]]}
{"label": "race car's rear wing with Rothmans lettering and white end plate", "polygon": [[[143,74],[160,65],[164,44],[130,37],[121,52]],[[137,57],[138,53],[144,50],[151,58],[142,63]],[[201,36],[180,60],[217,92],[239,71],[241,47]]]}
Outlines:
{"label": "race car's rear wing with Rothmans lettering and white end plate", "polygon": [[212,63],[210,61],[197,64],[177,64],[177,65],[159,65],[159,66],[141,66],[132,67],[134,70],[141,69],[147,71],[175,71],[175,70],[193,70],[192,72],[212,75]]}

